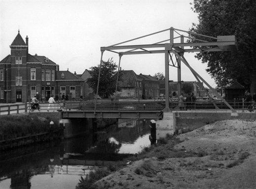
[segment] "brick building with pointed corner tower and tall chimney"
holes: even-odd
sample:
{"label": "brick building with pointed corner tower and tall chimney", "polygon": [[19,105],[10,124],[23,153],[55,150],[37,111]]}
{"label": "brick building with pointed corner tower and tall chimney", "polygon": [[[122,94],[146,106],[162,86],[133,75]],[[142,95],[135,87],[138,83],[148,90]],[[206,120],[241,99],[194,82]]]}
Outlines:
{"label": "brick building with pointed corner tower and tall chimney", "polygon": [[[46,56],[29,54],[28,36],[25,43],[18,32],[10,49],[11,54],[0,61],[0,103],[28,102],[36,95],[39,100],[47,101],[59,93],[57,83],[61,81],[56,81],[59,65]],[[72,82],[65,84],[80,85],[80,81]]]}

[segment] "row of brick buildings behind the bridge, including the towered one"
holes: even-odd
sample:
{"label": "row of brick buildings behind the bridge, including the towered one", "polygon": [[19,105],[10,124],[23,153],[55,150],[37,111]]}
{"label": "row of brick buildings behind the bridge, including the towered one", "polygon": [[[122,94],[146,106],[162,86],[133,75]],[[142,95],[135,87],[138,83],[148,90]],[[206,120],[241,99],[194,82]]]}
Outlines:
{"label": "row of brick buildings behind the bridge, including the towered one", "polygon": [[[164,93],[164,81],[150,75],[137,75],[133,70],[120,70],[119,99],[154,99]],[[29,38],[26,42],[18,31],[10,45],[10,54],[0,61],[0,103],[28,102],[34,96],[47,101],[50,96],[68,95],[70,100],[95,98],[93,89],[86,83],[91,71],[82,74],[59,70],[59,65],[44,55],[29,54]],[[188,81],[187,81],[188,82]],[[189,81],[194,94],[200,96],[202,83]],[[178,93],[177,83],[170,81],[170,96]]]}

